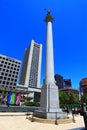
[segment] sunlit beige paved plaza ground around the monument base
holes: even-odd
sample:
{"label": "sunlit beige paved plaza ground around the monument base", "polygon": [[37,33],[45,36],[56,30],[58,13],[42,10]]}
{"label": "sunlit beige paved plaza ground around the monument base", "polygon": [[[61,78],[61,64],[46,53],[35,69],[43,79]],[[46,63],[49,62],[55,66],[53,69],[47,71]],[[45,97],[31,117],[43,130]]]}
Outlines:
{"label": "sunlit beige paved plaza ground around the monument base", "polygon": [[[72,116],[72,115],[69,115]],[[45,124],[31,122],[26,118],[26,113],[0,113],[0,130],[82,130],[84,129],[83,117],[75,116],[75,123]]]}

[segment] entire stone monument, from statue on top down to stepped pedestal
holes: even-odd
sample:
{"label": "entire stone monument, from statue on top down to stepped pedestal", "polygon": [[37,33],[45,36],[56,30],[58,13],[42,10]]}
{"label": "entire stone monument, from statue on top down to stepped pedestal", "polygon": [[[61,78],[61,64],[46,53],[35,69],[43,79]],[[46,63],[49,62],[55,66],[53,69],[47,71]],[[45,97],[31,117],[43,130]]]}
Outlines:
{"label": "entire stone monument, from statue on top down to stepped pedestal", "polygon": [[52,22],[53,17],[50,11],[47,12],[45,18],[46,30],[46,70],[45,70],[45,83],[41,89],[41,101],[38,111],[34,112],[37,117],[46,119],[63,118],[63,114],[59,108],[59,95],[58,87],[54,80],[54,57],[53,57],[53,35],[52,35]]}

